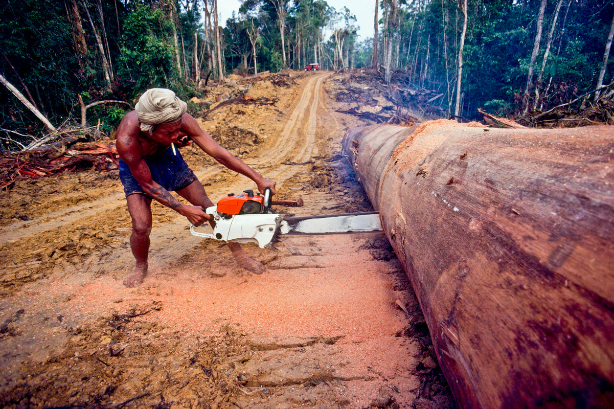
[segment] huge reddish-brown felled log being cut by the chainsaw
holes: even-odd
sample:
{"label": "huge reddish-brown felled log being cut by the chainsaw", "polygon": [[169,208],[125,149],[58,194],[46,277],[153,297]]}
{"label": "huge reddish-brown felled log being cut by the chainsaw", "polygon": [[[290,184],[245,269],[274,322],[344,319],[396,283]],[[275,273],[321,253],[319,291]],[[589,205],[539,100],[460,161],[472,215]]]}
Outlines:
{"label": "huge reddish-brown felled log being cut by the chainsaw", "polygon": [[460,407],[614,405],[614,127],[343,141]]}

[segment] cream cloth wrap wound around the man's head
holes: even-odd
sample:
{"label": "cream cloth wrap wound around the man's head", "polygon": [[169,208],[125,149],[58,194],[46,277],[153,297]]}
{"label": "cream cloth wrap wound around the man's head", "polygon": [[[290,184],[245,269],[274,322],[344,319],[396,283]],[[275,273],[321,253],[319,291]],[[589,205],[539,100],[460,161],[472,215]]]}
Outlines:
{"label": "cream cloth wrap wound around the man's head", "polygon": [[141,95],[134,107],[141,130],[151,134],[155,125],[177,122],[187,111],[187,104],[166,88],[151,88]]}

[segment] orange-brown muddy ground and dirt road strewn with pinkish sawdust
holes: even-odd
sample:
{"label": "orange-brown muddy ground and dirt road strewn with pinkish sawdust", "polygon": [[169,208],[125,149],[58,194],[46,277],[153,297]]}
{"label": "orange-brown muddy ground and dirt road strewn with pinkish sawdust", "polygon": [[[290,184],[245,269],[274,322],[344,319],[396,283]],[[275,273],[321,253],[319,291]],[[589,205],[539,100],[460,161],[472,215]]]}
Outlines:
{"label": "orange-brown muddy ground and dirt road strewn with pinkish sawdust", "polygon": [[[371,122],[341,112],[391,106],[376,95],[346,103],[348,88],[370,89],[332,72],[231,77],[190,112],[254,101],[200,123],[276,181],[276,199],[305,203],[275,211],[368,211],[340,142]],[[214,202],[255,188],[193,146],[181,152]],[[454,407],[383,234],[247,244],[267,268],[254,275],[154,203],[149,275],[127,289],[131,226],[117,170],[19,181],[0,204],[2,407]]]}

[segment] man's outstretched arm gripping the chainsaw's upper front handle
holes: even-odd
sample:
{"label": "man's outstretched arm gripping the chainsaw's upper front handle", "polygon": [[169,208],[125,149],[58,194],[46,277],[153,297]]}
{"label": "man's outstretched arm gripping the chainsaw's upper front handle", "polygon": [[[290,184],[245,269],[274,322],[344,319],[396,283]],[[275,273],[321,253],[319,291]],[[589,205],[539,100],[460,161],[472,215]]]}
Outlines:
{"label": "man's outstretched arm gripping the chainsaw's upper front handle", "polygon": [[192,141],[194,141],[200,149],[204,150],[206,154],[226,166],[228,169],[252,179],[258,186],[260,192],[264,193],[265,189],[268,187],[271,189],[271,195],[276,193],[275,182],[266,179],[260,173],[247,166],[243,161],[239,160],[239,158],[235,157],[235,155],[228,152],[227,149],[219,146],[210,134],[201,129],[198,122],[196,122],[191,115],[184,114],[182,120],[182,133],[190,135]]}

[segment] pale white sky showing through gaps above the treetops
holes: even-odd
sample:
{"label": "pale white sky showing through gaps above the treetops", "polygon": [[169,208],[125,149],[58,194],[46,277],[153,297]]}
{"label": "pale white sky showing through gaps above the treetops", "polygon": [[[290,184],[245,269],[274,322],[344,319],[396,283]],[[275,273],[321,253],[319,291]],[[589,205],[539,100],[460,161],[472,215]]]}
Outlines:
{"label": "pale white sky showing through gaps above the treetops", "polygon": [[[375,1],[373,0],[326,0],[328,6],[335,7],[338,12],[343,11],[343,7],[348,9],[356,16],[356,25],[360,26],[358,41],[364,41],[368,37],[373,37],[373,18],[375,15]],[[220,25],[225,26],[226,20],[239,14],[241,7],[240,0],[218,0],[217,7],[220,9]],[[381,17],[381,16],[380,16]]]}

